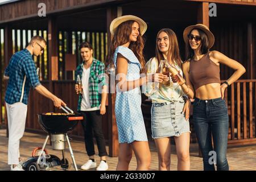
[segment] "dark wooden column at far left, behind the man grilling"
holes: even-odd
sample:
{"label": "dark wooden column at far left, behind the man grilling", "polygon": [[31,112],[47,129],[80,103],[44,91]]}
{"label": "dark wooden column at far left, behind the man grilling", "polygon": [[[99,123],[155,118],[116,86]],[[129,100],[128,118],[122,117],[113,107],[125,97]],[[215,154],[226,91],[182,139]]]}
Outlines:
{"label": "dark wooden column at far left, behind the man grilling", "polygon": [[[4,44],[5,44],[5,52],[4,52],[5,68],[7,68],[7,66],[9,65],[9,61],[11,59],[11,56],[13,55],[13,34],[11,32],[11,27],[10,26],[5,27]],[[7,81],[5,82],[5,88],[6,87],[7,87]],[[1,110],[2,110],[2,108],[1,108]],[[9,130],[8,130],[6,109],[5,109],[5,124],[6,124],[6,137],[8,137],[9,136]]]}

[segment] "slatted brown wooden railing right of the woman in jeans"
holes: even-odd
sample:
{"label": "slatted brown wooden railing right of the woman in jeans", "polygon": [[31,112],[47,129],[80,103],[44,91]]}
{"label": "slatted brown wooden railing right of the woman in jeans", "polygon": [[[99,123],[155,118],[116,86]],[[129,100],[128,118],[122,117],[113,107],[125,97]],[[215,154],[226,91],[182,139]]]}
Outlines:
{"label": "slatted brown wooden railing right of the woman in jeans", "polygon": [[230,120],[229,144],[256,143],[256,80],[238,80],[225,91]]}

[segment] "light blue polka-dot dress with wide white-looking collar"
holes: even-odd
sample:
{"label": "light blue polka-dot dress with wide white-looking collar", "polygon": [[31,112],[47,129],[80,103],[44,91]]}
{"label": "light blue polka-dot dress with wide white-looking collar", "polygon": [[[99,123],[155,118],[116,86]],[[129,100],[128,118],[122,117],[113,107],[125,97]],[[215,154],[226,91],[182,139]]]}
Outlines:
{"label": "light blue polka-dot dress with wide white-looking collar", "polygon": [[[141,63],[133,51],[127,47],[119,46],[115,49],[114,65],[117,67],[117,55],[120,53],[128,61],[127,81],[140,78]],[[121,92],[117,86],[115,98],[115,118],[118,127],[119,143],[147,141],[147,133],[141,110],[141,88]]]}

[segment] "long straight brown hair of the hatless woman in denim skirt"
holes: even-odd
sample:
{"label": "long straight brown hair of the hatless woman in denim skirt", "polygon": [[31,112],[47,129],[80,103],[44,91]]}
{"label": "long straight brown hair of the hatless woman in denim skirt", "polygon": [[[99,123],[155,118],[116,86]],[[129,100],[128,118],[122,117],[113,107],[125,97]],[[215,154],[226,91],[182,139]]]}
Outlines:
{"label": "long straight brown hair of the hatless woman in denim skirt", "polygon": [[174,31],[172,31],[170,28],[163,28],[158,32],[158,35],[156,36],[156,47],[155,47],[155,57],[158,61],[158,65],[160,63],[160,60],[164,60],[163,53],[159,51],[158,49],[158,36],[161,32],[166,32],[169,38],[169,49],[168,49],[168,55],[167,60],[171,61],[171,63],[175,63],[179,65],[181,68],[181,58],[180,58],[180,49],[179,44],[177,42],[177,36]]}

